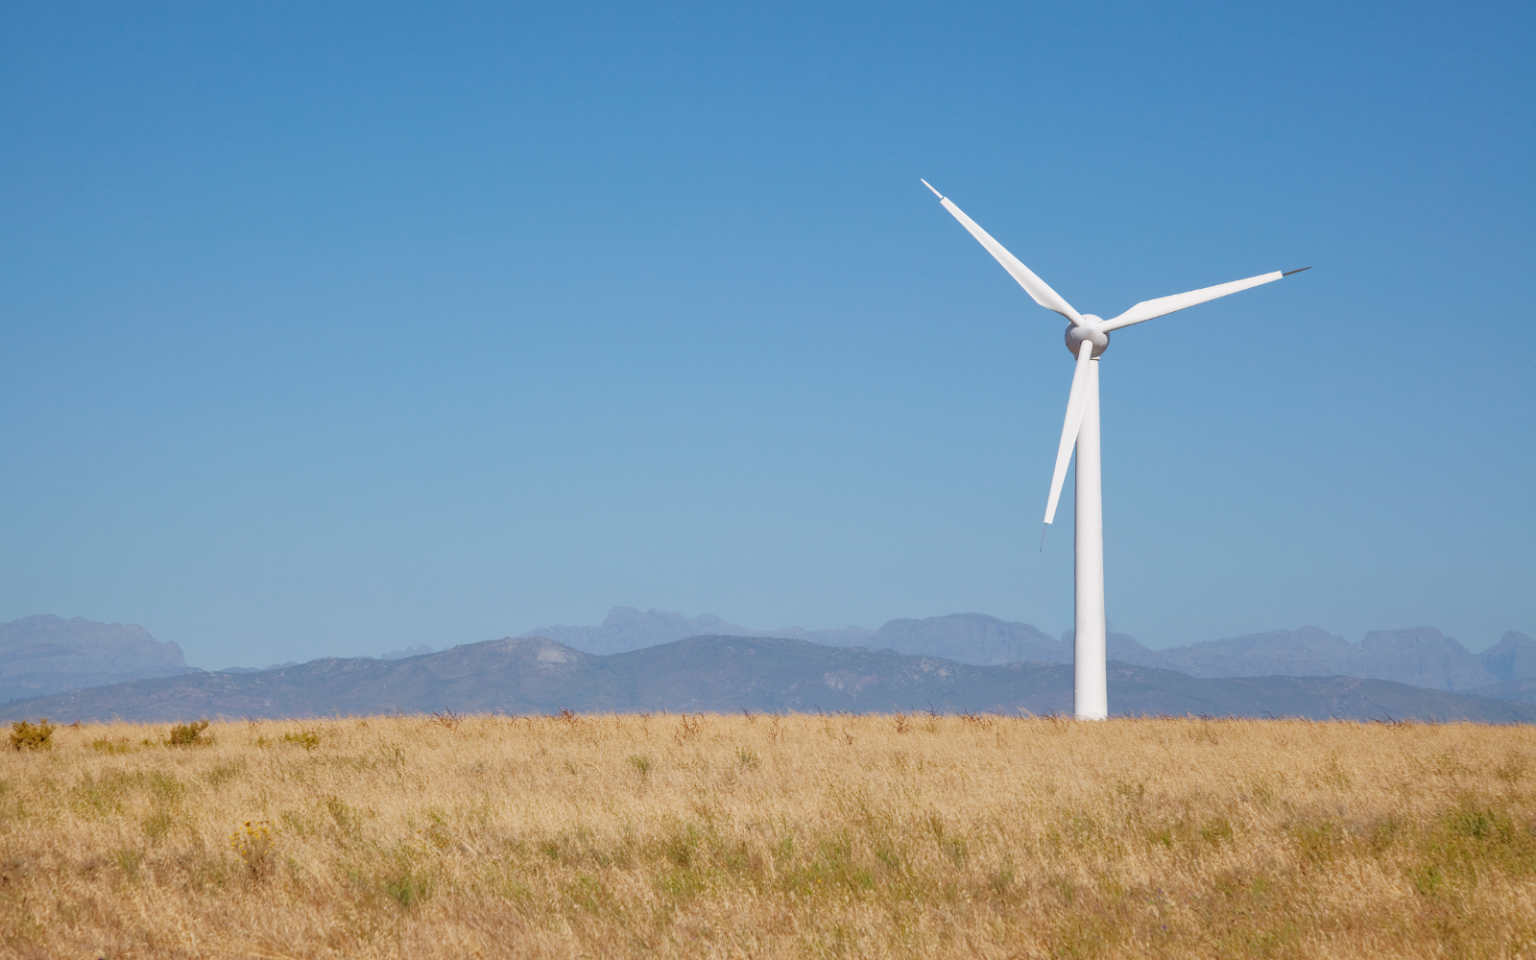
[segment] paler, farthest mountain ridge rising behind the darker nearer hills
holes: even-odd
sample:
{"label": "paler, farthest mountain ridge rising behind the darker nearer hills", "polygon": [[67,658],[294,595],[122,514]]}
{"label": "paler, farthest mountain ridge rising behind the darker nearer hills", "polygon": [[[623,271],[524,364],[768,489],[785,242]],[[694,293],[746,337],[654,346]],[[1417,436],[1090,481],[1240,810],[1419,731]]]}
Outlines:
{"label": "paler, farthest mountain ridge rising behind the darker nearer hills", "polygon": [[[736,628],[710,614],[685,617],[662,610],[642,613],[633,607],[614,607],[598,627],[556,627],[550,633],[558,636],[548,639],[594,656],[633,653],[713,634],[863,647],[974,667],[1072,660],[1071,631],[1057,639],[1029,624],[980,613],[897,619],[879,630],[791,627],[757,631]],[[429,651],[422,644],[384,657],[413,659]],[[1536,642],[1513,631],[1481,654],[1468,653],[1456,639],[1432,627],[1373,631],[1361,644],[1350,644],[1316,627],[1301,627],[1166,650],[1149,650],[1135,637],[1109,634],[1107,653],[1111,660],[1172,670],[1197,679],[1355,676],[1511,700],[1531,700],[1533,694],[1522,680],[1536,677]],[[6,699],[194,671],[180,647],[155,641],[141,627],[94,624],[80,617],[35,616],[0,624],[0,656],[5,657],[0,662],[0,697]],[[273,664],[264,670],[226,668],[224,673],[270,673],[286,667],[293,664]]]}

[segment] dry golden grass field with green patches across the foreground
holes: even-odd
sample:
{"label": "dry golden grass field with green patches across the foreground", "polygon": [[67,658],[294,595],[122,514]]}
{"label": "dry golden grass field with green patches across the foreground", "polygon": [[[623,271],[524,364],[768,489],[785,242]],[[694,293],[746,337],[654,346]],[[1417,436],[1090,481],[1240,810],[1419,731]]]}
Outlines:
{"label": "dry golden grass field with green patches across the foreground", "polygon": [[3,751],[0,955],[1536,957],[1530,727],[416,716],[169,737],[61,727]]}

